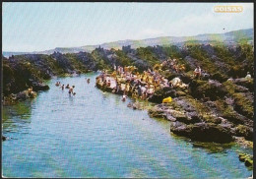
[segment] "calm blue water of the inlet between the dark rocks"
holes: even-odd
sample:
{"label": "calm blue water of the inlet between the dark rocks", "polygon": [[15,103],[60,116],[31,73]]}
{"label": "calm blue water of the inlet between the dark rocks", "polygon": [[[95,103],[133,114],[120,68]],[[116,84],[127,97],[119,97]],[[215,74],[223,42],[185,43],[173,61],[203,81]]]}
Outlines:
{"label": "calm blue water of the inlet between the dark rocks", "polygon": [[[90,78],[88,85],[85,78]],[[7,177],[244,178],[244,149],[214,149],[174,137],[169,123],[129,99],[95,88],[96,74],[53,79],[32,100],[3,109],[2,171]],[[75,85],[76,96],[55,87]],[[145,104],[147,105],[147,104]],[[200,144],[199,144],[200,145]],[[252,152],[250,149],[247,152]]]}

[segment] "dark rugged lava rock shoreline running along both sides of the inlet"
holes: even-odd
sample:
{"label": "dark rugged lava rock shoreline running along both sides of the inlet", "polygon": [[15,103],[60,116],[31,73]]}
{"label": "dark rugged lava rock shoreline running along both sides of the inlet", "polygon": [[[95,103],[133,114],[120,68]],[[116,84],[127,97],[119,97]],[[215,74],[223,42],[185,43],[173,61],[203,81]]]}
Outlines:
{"label": "dark rugged lava rock shoreline running along both sides of the inlet", "polygon": [[[96,87],[117,94],[124,94],[125,89],[125,95],[139,95],[155,103],[148,110],[149,115],[170,121],[170,132],[178,136],[252,147],[254,83],[253,78],[245,78],[247,73],[254,75],[251,45],[157,45],[138,49],[127,46],[122,50],[98,47],[92,53],[28,54],[2,60],[2,99],[7,105],[34,97],[28,92],[31,87],[34,92],[48,89],[43,82],[54,76],[103,69],[112,73],[116,66],[134,66],[134,75],[140,76],[141,82],[136,88],[133,80],[120,77],[120,73],[108,74],[120,87],[108,86],[100,77]],[[199,65],[202,74],[195,78],[194,70]],[[147,73],[154,75],[142,74],[149,69]],[[141,94],[139,86],[147,86],[147,91]],[[171,102],[162,103],[166,97],[171,97]],[[140,108],[136,104],[129,106]]]}

